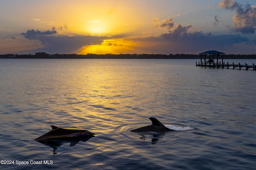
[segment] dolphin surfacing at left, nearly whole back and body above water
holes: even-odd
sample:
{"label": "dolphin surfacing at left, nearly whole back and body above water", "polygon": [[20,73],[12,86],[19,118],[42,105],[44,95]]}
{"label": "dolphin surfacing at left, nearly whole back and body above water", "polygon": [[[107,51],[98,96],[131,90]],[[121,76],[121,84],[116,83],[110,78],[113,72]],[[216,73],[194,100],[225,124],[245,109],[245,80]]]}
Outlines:
{"label": "dolphin surfacing at left, nearly whole back and body above water", "polygon": [[38,137],[35,141],[40,143],[64,143],[70,142],[70,147],[76,145],[79,141],[87,141],[91,137],[94,137],[94,133],[87,131],[85,129],[74,129],[67,128],[63,129],[57,126],[51,125],[52,130],[47,132],[46,134]]}

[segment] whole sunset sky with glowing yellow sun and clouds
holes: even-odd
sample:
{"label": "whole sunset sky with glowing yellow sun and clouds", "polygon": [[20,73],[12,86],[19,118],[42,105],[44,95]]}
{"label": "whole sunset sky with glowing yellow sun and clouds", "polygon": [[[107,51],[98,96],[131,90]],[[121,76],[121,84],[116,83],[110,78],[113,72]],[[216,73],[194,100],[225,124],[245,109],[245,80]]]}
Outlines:
{"label": "whole sunset sky with glowing yellow sun and clouds", "polygon": [[0,0],[0,54],[256,54],[255,0]]}

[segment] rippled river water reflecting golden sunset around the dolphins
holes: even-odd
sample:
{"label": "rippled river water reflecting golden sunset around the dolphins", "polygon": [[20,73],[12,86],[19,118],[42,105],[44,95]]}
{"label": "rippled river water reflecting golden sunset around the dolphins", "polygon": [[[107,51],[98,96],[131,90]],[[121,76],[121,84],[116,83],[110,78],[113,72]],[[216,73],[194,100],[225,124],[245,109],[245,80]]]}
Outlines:
{"label": "rippled river water reflecting golden sunset around the dolphins", "polygon": [[[0,168],[254,169],[256,72],[196,61],[0,59]],[[130,132],[149,117],[194,129]],[[96,135],[53,149],[34,141],[50,125]]]}

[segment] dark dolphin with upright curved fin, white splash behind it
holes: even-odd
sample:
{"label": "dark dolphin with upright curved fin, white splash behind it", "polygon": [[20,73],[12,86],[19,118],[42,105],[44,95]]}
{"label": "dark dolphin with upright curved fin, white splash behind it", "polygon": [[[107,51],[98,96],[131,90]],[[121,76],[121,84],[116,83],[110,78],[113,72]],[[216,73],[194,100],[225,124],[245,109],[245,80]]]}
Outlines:
{"label": "dark dolphin with upright curved fin, white splash behind it", "polygon": [[158,119],[154,117],[149,118],[152,121],[152,125],[140,127],[138,129],[133,129],[131,132],[156,132],[156,133],[165,133],[169,131],[173,131],[172,129],[168,129],[165,127]]}

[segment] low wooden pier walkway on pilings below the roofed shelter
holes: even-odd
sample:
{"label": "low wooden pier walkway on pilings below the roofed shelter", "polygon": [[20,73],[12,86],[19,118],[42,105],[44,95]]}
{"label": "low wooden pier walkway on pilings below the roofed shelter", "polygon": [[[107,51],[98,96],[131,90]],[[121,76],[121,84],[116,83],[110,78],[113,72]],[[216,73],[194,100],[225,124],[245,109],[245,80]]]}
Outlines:
{"label": "low wooden pier walkway on pilings below the roofed shelter", "polygon": [[229,63],[200,63],[200,62],[196,62],[196,66],[201,66],[201,67],[213,67],[213,68],[237,68],[239,70],[241,70],[241,68],[245,68],[245,70],[248,70],[249,68],[252,68],[252,70],[256,71],[256,65],[255,64],[252,64],[252,65],[248,65],[248,64],[229,64]]}

